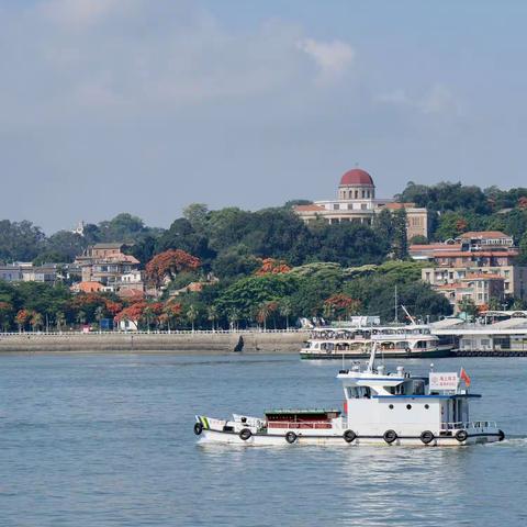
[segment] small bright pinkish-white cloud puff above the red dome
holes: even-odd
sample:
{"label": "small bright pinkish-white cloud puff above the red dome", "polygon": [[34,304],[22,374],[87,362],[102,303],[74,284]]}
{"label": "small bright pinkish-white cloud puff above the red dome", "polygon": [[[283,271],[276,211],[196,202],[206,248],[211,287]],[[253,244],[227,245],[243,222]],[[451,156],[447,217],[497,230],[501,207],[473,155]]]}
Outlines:
{"label": "small bright pinkish-white cloud puff above the red dome", "polygon": [[340,41],[318,42],[304,38],[299,41],[298,47],[315,61],[323,81],[338,79],[348,70],[356,55],[351,46]]}

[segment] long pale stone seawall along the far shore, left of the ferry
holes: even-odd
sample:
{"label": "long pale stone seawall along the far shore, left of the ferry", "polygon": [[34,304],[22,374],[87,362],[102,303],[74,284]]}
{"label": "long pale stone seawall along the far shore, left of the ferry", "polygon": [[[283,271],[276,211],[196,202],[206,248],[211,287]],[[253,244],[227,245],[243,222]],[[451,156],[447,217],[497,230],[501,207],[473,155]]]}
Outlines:
{"label": "long pale stone seawall along the far shore, left of the ferry", "polygon": [[2,352],[227,354],[239,338],[244,352],[299,352],[305,332],[0,334]]}

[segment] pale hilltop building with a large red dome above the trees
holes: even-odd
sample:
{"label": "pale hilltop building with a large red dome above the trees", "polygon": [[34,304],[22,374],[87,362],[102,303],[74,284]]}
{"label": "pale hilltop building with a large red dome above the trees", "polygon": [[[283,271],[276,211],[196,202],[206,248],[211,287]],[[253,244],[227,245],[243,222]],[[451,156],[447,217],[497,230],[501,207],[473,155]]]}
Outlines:
{"label": "pale hilltop building with a large red dome above the trees", "polygon": [[416,208],[415,203],[397,203],[393,199],[375,198],[373,178],[361,168],[352,168],[341,176],[336,200],[315,201],[310,205],[294,208],[305,223],[323,218],[330,224],[357,222],[365,225],[371,225],[374,215],[383,209],[406,211],[408,239],[414,236],[428,236],[427,210]]}

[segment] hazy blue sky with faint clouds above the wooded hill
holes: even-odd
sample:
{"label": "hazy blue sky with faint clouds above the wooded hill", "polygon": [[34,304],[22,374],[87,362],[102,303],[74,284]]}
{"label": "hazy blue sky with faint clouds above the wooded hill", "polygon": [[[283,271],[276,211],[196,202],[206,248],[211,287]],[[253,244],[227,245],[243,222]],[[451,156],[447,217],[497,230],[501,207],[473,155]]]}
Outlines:
{"label": "hazy blue sky with faint clouds above the wooded hill", "polygon": [[0,0],[0,220],[527,186],[527,2]]}

